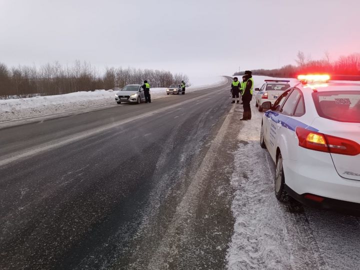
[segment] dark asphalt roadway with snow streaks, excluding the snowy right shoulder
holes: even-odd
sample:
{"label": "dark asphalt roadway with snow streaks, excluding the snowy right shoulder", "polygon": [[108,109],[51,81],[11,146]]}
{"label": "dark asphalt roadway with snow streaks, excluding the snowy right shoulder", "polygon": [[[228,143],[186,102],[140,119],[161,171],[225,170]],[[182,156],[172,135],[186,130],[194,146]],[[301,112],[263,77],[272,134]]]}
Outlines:
{"label": "dark asphalt roadway with snow streaks, excluding the snowy right shoulder", "polygon": [[224,268],[230,81],[0,129],[0,268]]}

